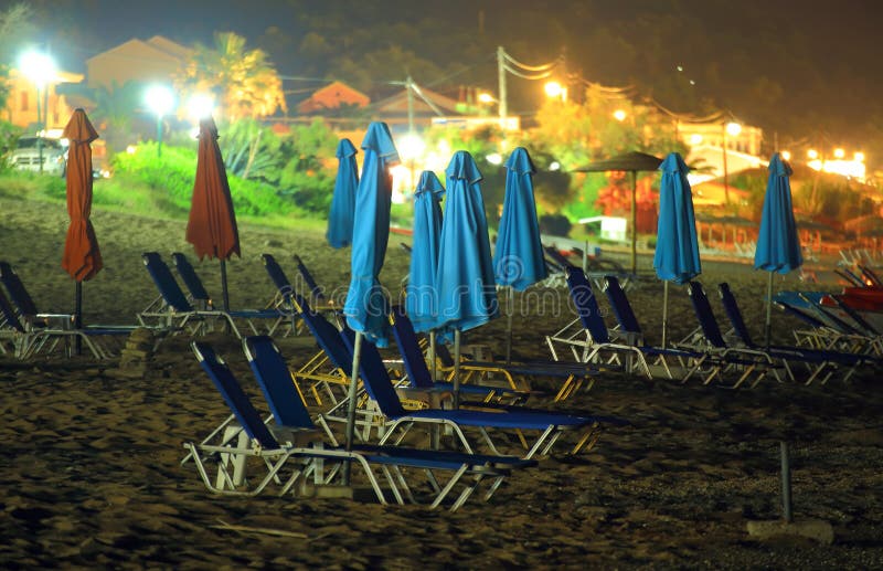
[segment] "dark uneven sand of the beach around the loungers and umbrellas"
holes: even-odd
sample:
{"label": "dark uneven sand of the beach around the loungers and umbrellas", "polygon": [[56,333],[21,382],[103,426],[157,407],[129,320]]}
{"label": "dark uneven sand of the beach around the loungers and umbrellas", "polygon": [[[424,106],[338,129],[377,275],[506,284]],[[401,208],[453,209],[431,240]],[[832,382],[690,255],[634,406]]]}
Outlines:
{"label": "dark uneven sand of the beach around the loungers and umbrellas", "polygon": [[[41,311],[72,311],[74,284],[61,268],[64,205],[0,198],[0,260],[18,271]],[[140,253],[192,258],[185,222],[104,211],[92,220],[105,268],[84,284],[84,320],[135,324],[136,311],[157,295]],[[273,297],[265,252],[292,281],[291,255],[299,254],[332,295],[345,290],[350,251],[332,250],[321,233],[254,224],[240,232],[243,256],[228,264],[233,307],[257,308]],[[391,290],[407,273],[398,242],[391,236],[381,275]],[[217,262],[193,262],[220,297]],[[647,256],[639,268],[651,273]],[[728,282],[755,337],[763,337],[767,274],[708,262],[701,281],[710,295]],[[807,286],[788,275],[777,276],[775,287],[839,286]],[[670,336],[679,339],[695,319],[683,288],[671,287],[670,296]],[[515,316],[519,358],[549,358],[543,336],[573,318],[565,288],[542,297],[563,302]],[[658,343],[662,284],[641,281],[629,299],[648,341]],[[712,303],[723,319],[716,295]],[[798,324],[774,316],[774,340],[792,342]],[[506,319],[496,319],[467,332],[465,342],[501,355],[504,332]],[[238,341],[217,332],[205,339],[264,406]],[[579,456],[543,457],[508,478],[488,504],[472,498],[451,514],[370,500],[212,495],[192,464],[180,465],[182,443],[203,437],[228,412],[188,342],[166,339],[142,378],[85,356],[0,357],[3,568],[883,568],[880,371],[825,385],[765,380],[736,391],[599,374],[592,390],[565,403],[536,396],[531,404],[588,409],[630,426],[610,429]],[[316,350],[305,339],[278,343],[292,367]],[[534,388],[554,382],[536,380]],[[795,518],[829,522],[832,544],[748,537],[748,521],[781,517],[781,440],[791,448]]]}

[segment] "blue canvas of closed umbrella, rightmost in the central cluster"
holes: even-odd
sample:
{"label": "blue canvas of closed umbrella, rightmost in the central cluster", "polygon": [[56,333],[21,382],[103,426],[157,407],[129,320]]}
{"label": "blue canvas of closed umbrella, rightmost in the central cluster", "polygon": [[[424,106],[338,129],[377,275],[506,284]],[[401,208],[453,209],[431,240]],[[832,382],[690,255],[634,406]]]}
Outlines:
{"label": "blue canvas of closed umbrella, rightmost in the central cluster", "polygon": [[533,198],[536,169],[523,147],[512,151],[506,168],[506,197],[493,252],[493,273],[498,284],[523,292],[546,276]]}

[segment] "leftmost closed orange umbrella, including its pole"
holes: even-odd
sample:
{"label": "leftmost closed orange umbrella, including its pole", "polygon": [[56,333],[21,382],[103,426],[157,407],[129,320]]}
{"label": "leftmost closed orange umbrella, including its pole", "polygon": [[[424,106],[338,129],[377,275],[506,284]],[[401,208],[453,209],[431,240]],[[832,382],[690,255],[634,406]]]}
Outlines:
{"label": "leftmost closed orange umbrella, including its pole", "polygon": [[[76,308],[74,326],[83,327],[83,282],[92,279],[102,269],[102,252],[95,229],[89,222],[92,213],[92,147],[98,138],[95,127],[83,109],[75,109],[62,134],[70,141],[67,148],[67,214],[71,225],[64,242],[62,267],[76,281]],[[79,353],[79,338],[77,338]]]}

